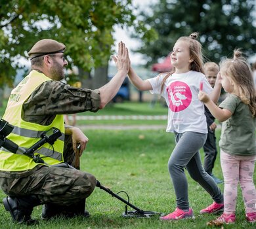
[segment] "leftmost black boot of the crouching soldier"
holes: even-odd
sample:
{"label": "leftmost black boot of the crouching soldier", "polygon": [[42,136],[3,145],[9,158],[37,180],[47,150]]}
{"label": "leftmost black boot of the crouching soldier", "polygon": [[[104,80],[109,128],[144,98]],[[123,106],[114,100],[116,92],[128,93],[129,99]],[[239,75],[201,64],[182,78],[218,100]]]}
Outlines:
{"label": "leftmost black boot of the crouching soldier", "polygon": [[18,224],[37,224],[37,220],[31,219],[33,207],[40,204],[37,196],[22,196],[3,198],[5,210],[11,213],[12,219]]}

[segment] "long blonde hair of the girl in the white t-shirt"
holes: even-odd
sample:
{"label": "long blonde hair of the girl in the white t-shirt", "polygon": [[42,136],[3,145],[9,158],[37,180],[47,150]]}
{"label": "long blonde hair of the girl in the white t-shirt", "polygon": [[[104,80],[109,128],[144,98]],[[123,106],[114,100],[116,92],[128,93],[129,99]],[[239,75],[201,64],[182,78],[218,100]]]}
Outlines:
{"label": "long blonde hair of the girl in the white t-shirt", "polygon": [[[199,37],[199,33],[191,33],[189,37],[180,37],[177,41],[185,41],[188,43],[188,48],[190,52],[190,58],[193,59],[193,62],[190,63],[190,70],[198,71],[204,74],[203,71],[203,54],[202,54],[202,44],[197,41]],[[161,92],[163,91],[163,86],[165,81],[169,78],[170,75],[175,73],[175,67],[173,67],[172,71],[167,73],[161,82]]]}

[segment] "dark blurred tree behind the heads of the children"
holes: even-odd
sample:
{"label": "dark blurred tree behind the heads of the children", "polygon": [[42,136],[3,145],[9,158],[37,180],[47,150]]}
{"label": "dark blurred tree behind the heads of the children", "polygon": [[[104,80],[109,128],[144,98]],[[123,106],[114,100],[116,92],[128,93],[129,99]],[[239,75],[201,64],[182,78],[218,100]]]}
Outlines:
{"label": "dark blurred tree behind the heads of the children", "polygon": [[256,52],[255,0],[160,0],[150,8],[151,14],[141,12],[140,17],[156,30],[158,40],[142,39],[137,50],[148,64],[167,56],[179,37],[194,31],[201,33],[204,54],[213,62],[230,56],[234,48],[243,48],[247,56]]}

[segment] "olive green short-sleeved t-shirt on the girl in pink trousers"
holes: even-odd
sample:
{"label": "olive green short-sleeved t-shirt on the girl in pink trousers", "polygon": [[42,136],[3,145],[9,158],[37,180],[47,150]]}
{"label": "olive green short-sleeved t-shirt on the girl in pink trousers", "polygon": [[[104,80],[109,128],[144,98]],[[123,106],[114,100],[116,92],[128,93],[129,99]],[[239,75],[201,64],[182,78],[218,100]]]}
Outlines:
{"label": "olive green short-sleeved t-shirt on the girl in pink trousers", "polygon": [[236,155],[256,154],[255,123],[248,105],[233,94],[228,94],[219,105],[231,111],[232,116],[224,121],[219,146],[224,152]]}

